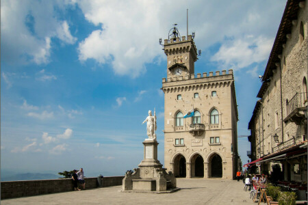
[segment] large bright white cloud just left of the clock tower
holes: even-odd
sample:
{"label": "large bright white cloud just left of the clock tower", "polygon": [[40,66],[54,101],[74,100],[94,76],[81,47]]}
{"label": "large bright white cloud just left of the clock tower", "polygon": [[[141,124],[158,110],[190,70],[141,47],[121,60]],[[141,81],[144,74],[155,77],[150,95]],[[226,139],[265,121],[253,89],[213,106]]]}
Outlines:
{"label": "large bright white cloud just left of the clock tower", "polygon": [[85,17],[101,29],[79,43],[79,60],[112,61],[116,74],[137,77],[159,53],[157,1],[79,1]]}

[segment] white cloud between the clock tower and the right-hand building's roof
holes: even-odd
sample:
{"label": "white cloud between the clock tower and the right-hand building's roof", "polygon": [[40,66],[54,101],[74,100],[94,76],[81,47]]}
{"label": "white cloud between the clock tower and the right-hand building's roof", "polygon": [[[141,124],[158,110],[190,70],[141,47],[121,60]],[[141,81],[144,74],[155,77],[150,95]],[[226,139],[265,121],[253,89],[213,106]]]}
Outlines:
{"label": "white cloud between the clock tower and the right-hand building's roof", "polygon": [[218,61],[224,68],[239,70],[268,59],[272,42],[272,39],[263,36],[229,40],[220,46],[219,51],[211,57],[211,61]]}

